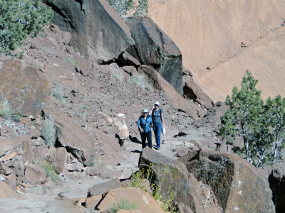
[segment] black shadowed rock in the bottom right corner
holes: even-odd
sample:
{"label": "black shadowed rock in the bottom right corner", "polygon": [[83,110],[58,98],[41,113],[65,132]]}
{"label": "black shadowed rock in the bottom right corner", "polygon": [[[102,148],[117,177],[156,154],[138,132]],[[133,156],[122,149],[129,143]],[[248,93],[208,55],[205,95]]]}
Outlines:
{"label": "black shadowed rock in the bottom right corner", "polygon": [[272,200],[276,207],[276,213],[284,212],[285,160],[272,165],[272,172],[271,175],[269,175],[269,185],[273,193]]}

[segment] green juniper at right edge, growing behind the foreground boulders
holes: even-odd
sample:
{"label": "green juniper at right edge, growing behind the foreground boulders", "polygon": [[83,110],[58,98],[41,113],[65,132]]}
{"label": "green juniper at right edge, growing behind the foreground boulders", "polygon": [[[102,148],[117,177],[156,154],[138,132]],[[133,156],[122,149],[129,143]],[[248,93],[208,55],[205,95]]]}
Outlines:
{"label": "green juniper at right edge, growing behind the foreground boulders", "polygon": [[280,160],[284,152],[285,99],[261,99],[261,90],[255,87],[258,80],[247,74],[241,89],[234,87],[232,98],[227,96],[229,110],[224,114],[219,133],[227,143],[242,138],[244,146],[233,146],[233,151],[257,167],[271,165]]}

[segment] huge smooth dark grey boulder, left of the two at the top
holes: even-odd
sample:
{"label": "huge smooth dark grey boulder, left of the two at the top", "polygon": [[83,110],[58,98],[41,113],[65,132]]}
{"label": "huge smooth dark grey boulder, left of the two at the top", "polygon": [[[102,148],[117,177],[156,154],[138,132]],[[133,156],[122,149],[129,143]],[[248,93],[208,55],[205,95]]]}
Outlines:
{"label": "huge smooth dark grey boulder, left of the two at the top", "polygon": [[43,0],[52,22],[71,33],[70,45],[96,62],[107,62],[133,45],[130,29],[105,0]]}

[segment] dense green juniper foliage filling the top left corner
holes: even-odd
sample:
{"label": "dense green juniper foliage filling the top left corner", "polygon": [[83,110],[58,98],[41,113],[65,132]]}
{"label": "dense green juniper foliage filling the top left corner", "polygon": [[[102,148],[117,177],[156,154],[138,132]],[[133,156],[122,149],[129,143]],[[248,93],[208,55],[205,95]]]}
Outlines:
{"label": "dense green juniper foliage filling the top left corner", "polygon": [[37,35],[53,18],[53,11],[41,7],[41,1],[0,0],[0,55],[16,54],[28,35]]}

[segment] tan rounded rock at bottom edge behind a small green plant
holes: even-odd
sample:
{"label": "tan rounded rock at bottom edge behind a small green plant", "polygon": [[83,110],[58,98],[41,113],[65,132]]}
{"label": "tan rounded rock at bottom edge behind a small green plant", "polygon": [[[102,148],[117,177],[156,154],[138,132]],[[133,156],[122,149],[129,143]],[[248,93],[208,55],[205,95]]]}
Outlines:
{"label": "tan rounded rock at bottom edge behind a small green plant", "polygon": [[130,202],[138,203],[138,210],[147,213],[163,213],[160,204],[150,196],[148,192],[143,192],[140,189],[127,187],[110,190],[98,205],[99,212],[103,212],[110,208],[112,202],[119,202],[121,199],[128,199]]}

